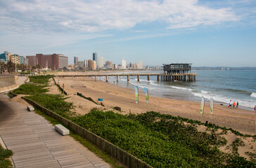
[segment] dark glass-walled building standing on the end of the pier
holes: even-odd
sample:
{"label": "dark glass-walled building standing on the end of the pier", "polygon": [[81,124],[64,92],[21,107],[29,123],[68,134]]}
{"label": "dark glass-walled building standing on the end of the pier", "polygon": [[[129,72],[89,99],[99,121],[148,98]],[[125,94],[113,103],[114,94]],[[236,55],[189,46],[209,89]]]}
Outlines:
{"label": "dark glass-walled building standing on the end of the pier", "polygon": [[172,73],[190,73],[191,72],[191,64],[163,64],[164,72],[167,74]]}

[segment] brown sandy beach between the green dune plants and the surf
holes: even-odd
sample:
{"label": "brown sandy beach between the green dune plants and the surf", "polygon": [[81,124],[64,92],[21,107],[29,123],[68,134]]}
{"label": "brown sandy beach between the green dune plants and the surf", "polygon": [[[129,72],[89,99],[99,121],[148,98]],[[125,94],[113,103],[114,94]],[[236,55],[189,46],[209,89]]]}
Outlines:
{"label": "brown sandy beach between the green dune plants and the surf", "polygon": [[[160,113],[181,116],[202,122],[215,123],[223,127],[231,127],[243,134],[255,134],[255,112],[245,109],[230,109],[227,106],[215,104],[214,115],[210,114],[210,104],[205,104],[205,112],[200,114],[200,102],[191,102],[163,97],[149,97],[149,104],[146,104],[145,94],[139,92],[139,104],[135,103],[134,90],[117,87],[103,81],[94,81],[92,78],[56,77],[56,82],[62,86],[65,83],[65,91],[68,93],[68,101],[74,102],[77,106],[77,113],[89,113],[92,108],[113,110],[113,107],[121,108],[122,113],[146,113],[146,111],[157,111]],[[85,87],[82,87],[84,85]],[[73,87],[71,87],[73,86]],[[77,96],[77,92],[85,97],[91,97],[97,102],[98,98],[103,99],[103,105],[96,105],[93,102]],[[150,92],[149,92],[150,94]],[[99,104],[100,102],[98,102]]]}

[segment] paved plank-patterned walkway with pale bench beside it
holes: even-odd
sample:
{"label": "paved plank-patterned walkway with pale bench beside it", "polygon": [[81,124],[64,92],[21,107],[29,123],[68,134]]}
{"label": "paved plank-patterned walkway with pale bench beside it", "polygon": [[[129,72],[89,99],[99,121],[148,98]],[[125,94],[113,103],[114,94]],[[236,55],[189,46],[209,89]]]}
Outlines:
{"label": "paved plank-patterned walkway with pale bench beside it", "polygon": [[15,167],[110,167],[43,117],[0,94],[0,136],[13,151]]}

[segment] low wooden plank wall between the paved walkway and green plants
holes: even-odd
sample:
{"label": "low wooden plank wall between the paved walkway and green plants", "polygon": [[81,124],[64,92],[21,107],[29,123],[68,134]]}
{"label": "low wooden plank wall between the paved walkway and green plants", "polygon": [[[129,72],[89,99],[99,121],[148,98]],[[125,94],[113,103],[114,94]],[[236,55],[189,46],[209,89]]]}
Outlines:
{"label": "low wooden plank wall between the paved walkway and green plants", "polygon": [[47,115],[51,116],[52,118],[55,118],[60,123],[65,125],[65,127],[70,128],[72,132],[75,132],[75,134],[79,134],[84,139],[87,139],[95,146],[98,146],[102,151],[108,153],[108,155],[113,156],[116,158],[119,162],[122,162],[122,164],[126,165],[127,167],[131,168],[153,168],[150,165],[146,164],[142,160],[139,160],[138,158],[134,157],[133,155],[127,153],[127,151],[122,150],[121,148],[115,146],[114,144],[110,143],[109,141],[106,141],[105,139],[98,137],[98,135],[90,132],[89,130],[80,127],[79,125],[72,123],[70,120],[67,120],[66,118],[63,118],[62,116],[59,116],[58,114],[54,113],[53,111],[50,111],[49,109],[44,108],[43,106],[40,106],[36,102],[27,99],[25,97],[22,97],[27,101],[28,103],[32,104],[33,106],[37,107],[40,111],[43,111]]}

